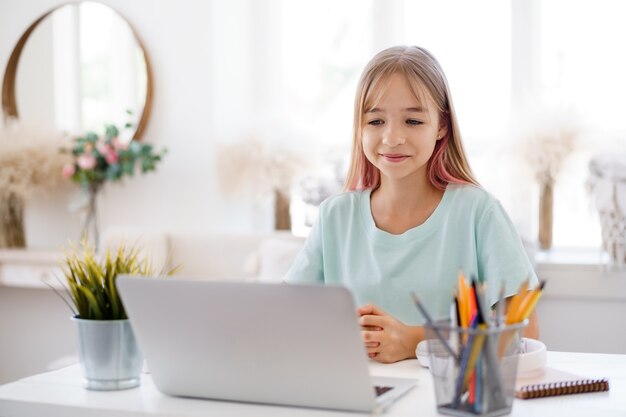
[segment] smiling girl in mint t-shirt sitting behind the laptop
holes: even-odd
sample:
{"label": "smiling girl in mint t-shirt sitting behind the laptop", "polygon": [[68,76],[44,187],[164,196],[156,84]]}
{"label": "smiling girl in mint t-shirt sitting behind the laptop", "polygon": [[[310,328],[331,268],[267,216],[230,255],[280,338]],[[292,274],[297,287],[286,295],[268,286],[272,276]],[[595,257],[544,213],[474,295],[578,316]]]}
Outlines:
{"label": "smiling girl in mint t-shirt sitting behind the laptop", "polygon": [[[472,175],[445,75],[423,48],[386,49],[363,71],[344,188],[320,206],[285,280],[348,287],[374,360],[415,357],[424,329],[412,291],[446,317],[459,270],[487,282],[492,306],[501,286],[511,297],[537,284],[513,224]],[[525,335],[538,336],[534,314]]]}

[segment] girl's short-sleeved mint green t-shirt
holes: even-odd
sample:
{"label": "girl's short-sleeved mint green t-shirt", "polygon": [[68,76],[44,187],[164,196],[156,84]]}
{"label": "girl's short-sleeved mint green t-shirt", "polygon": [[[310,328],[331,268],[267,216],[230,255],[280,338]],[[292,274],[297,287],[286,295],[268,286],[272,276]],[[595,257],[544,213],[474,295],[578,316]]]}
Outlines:
{"label": "girl's short-sleeved mint green t-shirt", "polygon": [[410,325],[424,321],[412,291],[431,314],[449,316],[459,271],[485,280],[490,305],[502,284],[507,297],[527,278],[537,284],[515,227],[484,189],[448,185],[431,216],[400,235],[376,227],[370,194],[348,192],[322,203],[286,282],[343,285],[357,306],[373,303]]}

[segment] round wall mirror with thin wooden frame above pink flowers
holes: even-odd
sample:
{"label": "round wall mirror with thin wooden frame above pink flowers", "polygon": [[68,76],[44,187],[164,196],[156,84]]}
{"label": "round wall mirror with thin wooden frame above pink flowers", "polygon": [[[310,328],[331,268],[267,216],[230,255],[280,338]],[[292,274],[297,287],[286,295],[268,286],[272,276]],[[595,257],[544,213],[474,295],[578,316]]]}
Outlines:
{"label": "round wall mirror with thin wooden frame above pink flowers", "polygon": [[139,139],[151,98],[139,38],[115,10],[93,1],[37,19],[15,46],[2,84],[5,117],[71,134],[130,124]]}

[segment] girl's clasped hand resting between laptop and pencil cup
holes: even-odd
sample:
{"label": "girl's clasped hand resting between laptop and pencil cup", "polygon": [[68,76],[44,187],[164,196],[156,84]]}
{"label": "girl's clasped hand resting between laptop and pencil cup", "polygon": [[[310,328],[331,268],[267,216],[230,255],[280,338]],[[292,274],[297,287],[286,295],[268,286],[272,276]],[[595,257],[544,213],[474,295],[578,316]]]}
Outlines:
{"label": "girl's clasped hand resting between laptop and pencil cup", "polygon": [[359,307],[361,336],[370,358],[381,363],[392,363],[415,357],[415,347],[423,336],[423,329],[407,326],[372,304]]}

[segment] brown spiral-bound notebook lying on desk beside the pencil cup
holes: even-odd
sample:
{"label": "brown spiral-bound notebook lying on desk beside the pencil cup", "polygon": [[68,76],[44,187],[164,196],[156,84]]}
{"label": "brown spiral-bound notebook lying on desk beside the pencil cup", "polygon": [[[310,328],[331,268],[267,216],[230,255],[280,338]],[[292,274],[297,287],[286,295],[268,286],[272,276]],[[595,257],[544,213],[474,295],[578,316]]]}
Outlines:
{"label": "brown spiral-bound notebook lying on desk beside the pencil cup", "polygon": [[591,379],[553,368],[545,368],[541,375],[518,378],[515,385],[515,396],[522,400],[529,400],[608,390],[609,381],[606,378]]}

